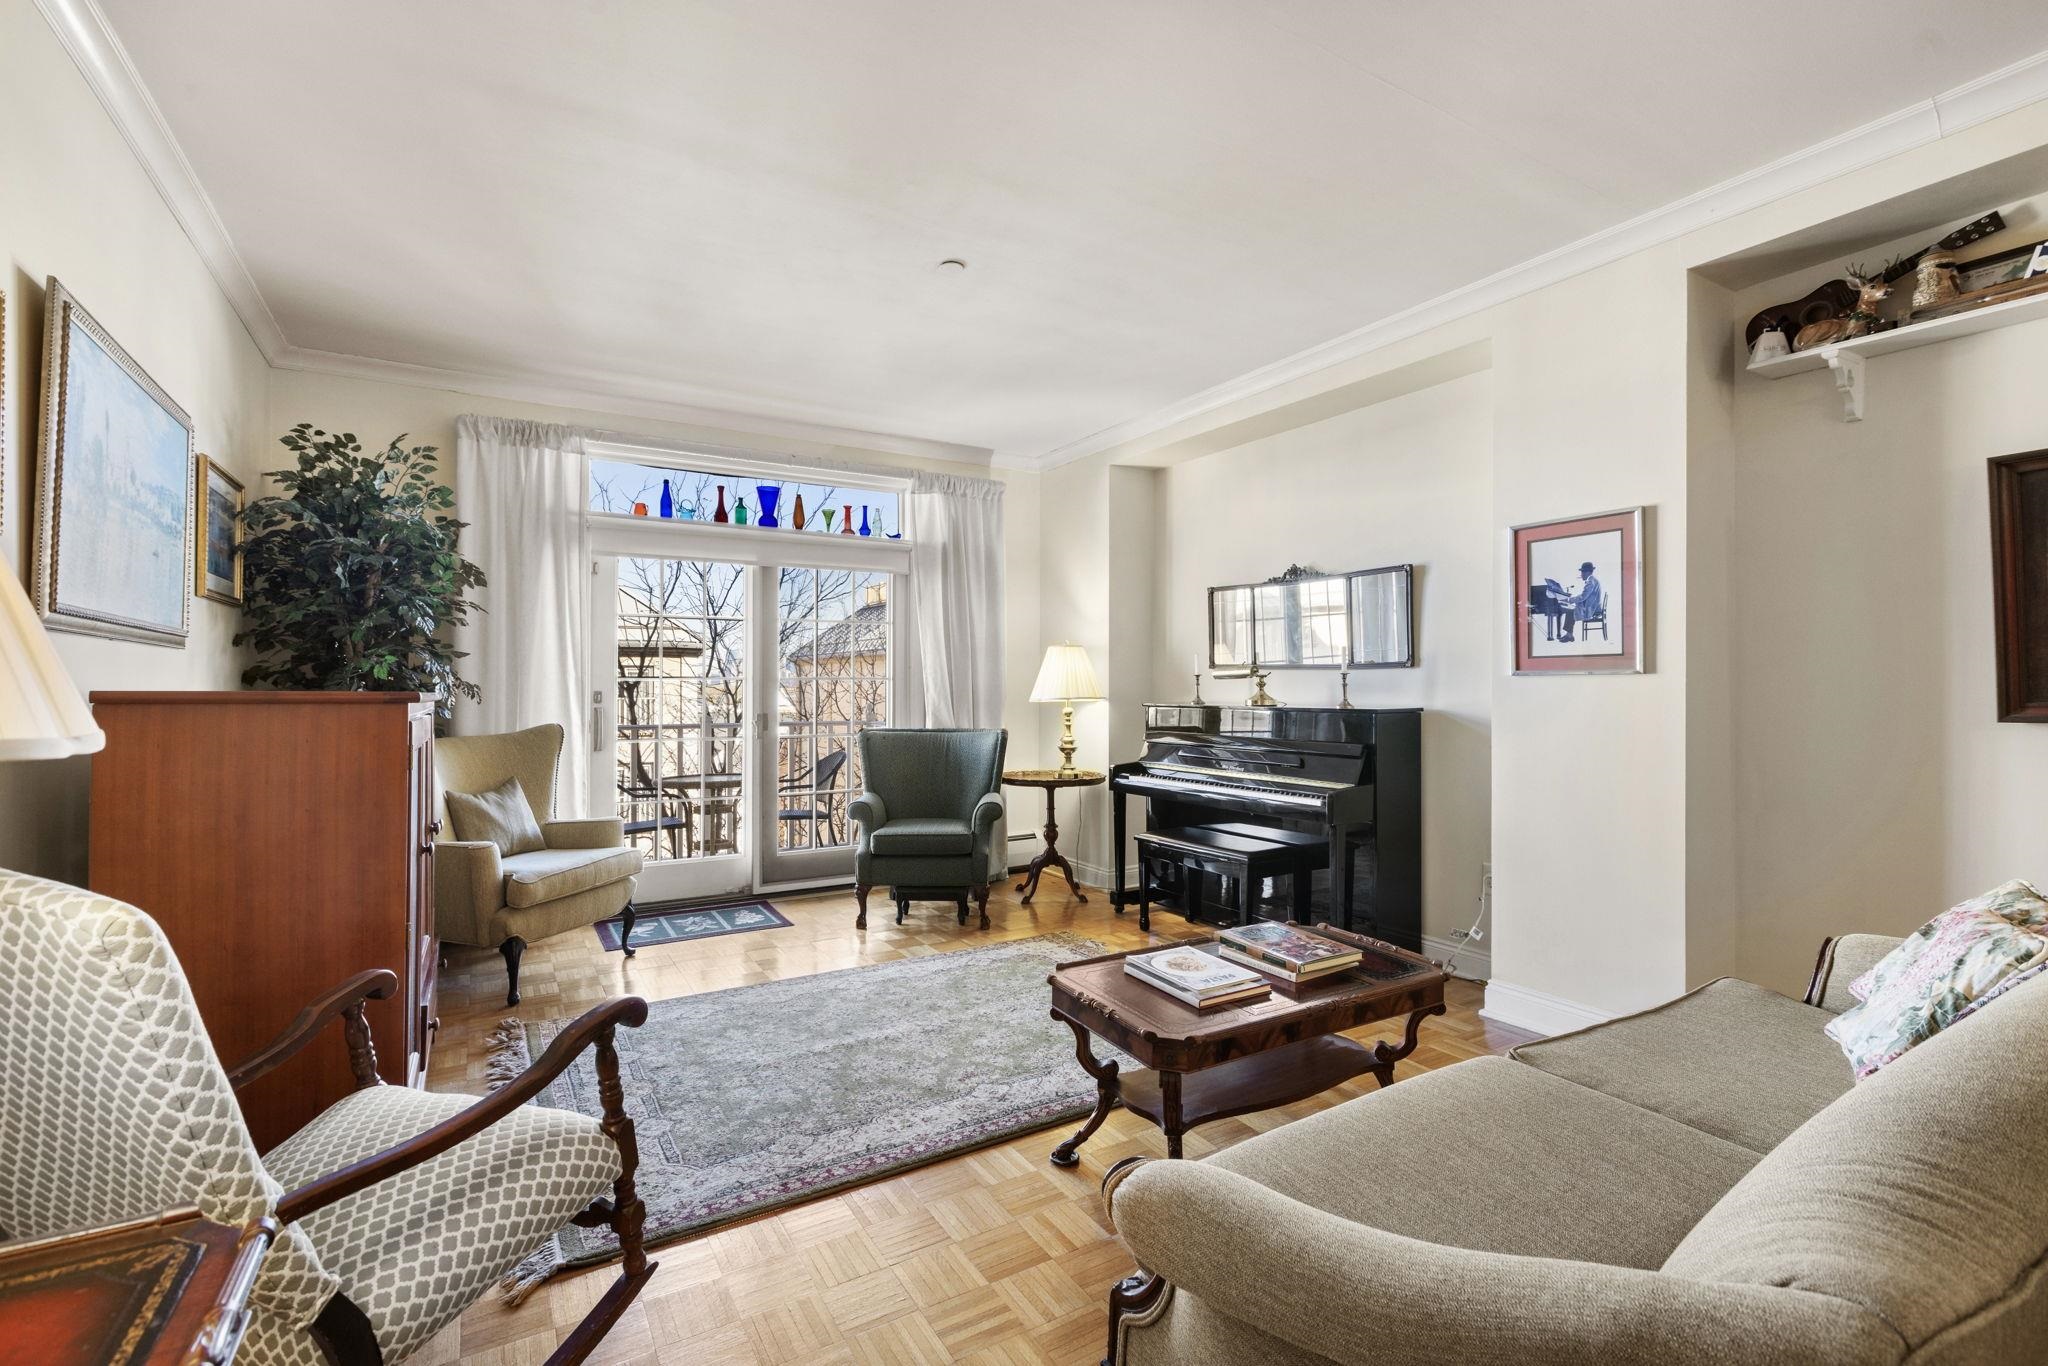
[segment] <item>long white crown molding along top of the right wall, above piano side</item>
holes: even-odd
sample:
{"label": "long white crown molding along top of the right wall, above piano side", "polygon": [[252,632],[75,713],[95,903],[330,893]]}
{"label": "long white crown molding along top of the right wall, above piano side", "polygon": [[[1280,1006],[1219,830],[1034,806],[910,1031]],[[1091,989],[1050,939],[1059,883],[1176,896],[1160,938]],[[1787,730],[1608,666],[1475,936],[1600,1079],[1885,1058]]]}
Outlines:
{"label": "long white crown molding along top of the right wall, above piano side", "polygon": [[1036,457],[1010,455],[997,457],[997,463],[1024,469],[1055,469],[1102,455],[1104,451],[1114,451],[1116,446],[1155,436],[1167,428],[1194,422],[1206,414],[1307,379],[1317,371],[1358,360],[1382,346],[1393,346],[1432,328],[1470,317],[1473,313],[1569,281],[1575,274],[1585,274],[1624,256],[1634,256],[1647,248],[1683,238],[1708,223],[1759,209],[1825,180],[1882,162],[1884,158],[1939,141],[2042,98],[2048,98],[2048,51],[2034,53],[1929,100],[1909,104],[1858,129],[1792,152],[1698,195],[1651,209],[1626,223],[1579,238],[1520,266],[1509,266],[1343,336],[1298,350],[1272,365],[1247,371],[1237,379],[1194,393],[1178,403],[1108,426]]}

